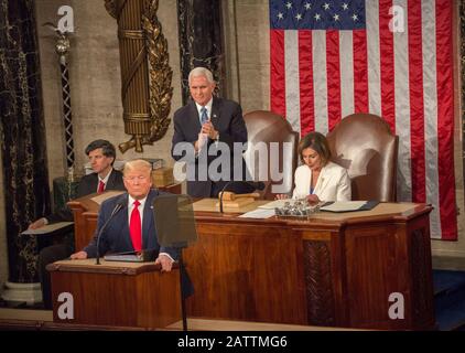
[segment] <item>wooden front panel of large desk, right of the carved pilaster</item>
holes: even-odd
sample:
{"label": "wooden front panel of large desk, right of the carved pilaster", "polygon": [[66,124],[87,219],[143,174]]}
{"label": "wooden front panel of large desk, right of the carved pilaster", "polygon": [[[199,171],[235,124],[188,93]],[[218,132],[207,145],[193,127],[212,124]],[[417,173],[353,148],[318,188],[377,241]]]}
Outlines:
{"label": "wooden front panel of large desk, right of the carved pilaster", "polygon": [[389,225],[346,231],[350,327],[390,322],[390,293],[409,295],[405,238],[396,231]]}

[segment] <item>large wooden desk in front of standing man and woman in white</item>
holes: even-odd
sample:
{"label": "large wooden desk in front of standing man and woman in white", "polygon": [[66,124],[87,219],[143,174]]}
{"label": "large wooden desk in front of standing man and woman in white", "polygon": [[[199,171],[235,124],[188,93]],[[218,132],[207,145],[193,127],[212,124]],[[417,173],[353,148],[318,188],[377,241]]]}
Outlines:
{"label": "large wooden desk in front of standing man and woman in white", "polygon": [[[184,252],[195,288],[187,314],[433,329],[431,210],[425,204],[381,203],[371,211],[322,212],[309,221],[197,211],[198,240]],[[89,239],[96,223],[89,217],[86,222],[82,235]],[[389,318],[391,293],[403,296],[403,319]]]}

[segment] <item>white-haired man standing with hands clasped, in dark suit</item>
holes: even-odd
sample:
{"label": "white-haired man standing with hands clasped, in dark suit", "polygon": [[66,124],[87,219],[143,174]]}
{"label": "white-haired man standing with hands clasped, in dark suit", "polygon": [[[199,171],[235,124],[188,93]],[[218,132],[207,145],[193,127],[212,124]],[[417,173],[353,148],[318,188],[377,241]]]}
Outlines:
{"label": "white-haired man standing with hands clasped, in dark suit", "polygon": [[[176,161],[183,160],[187,163],[187,194],[194,197],[217,197],[226,183],[235,178],[235,169],[241,169],[240,180],[245,178],[246,164],[241,157],[242,149],[239,151],[234,149],[235,142],[247,142],[242,109],[233,100],[213,96],[215,81],[212,72],[205,67],[195,67],[191,71],[188,85],[193,101],[174,114],[171,154]],[[226,150],[216,149],[218,142],[223,143]],[[181,146],[183,147],[180,148]],[[186,146],[194,152],[188,153],[186,150],[180,152]],[[209,153],[212,150],[214,153]],[[207,154],[203,158],[202,153]],[[240,156],[236,156],[235,159],[235,153],[240,153]],[[218,165],[220,161],[227,164],[228,170],[224,173],[226,178],[212,179],[212,173],[207,173],[208,167],[214,161]],[[225,164],[219,169],[224,167]],[[195,170],[195,173],[190,174],[190,168]],[[253,190],[247,186],[242,186],[246,188],[245,190],[240,190],[239,186],[239,190],[234,191],[245,193]]]}

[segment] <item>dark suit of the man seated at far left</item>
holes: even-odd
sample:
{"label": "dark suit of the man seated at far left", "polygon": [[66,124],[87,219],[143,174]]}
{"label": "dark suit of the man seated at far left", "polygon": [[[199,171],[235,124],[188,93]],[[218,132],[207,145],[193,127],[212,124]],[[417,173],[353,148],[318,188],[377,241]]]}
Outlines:
{"label": "dark suit of the man seated at far left", "polygon": [[[77,188],[77,199],[97,192],[98,174],[91,173],[80,179]],[[118,170],[112,170],[108,176],[105,190],[126,190],[122,182],[122,173]],[[73,222],[73,213],[69,208],[61,212],[55,212],[47,215],[45,218],[50,223],[56,222]],[[52,309],[52,292],[50,284],[50,274],[46,270],[48,264],[63,260],[74,253],[74,236],[71,234],[67,238],[57,245],[52,245],[43,248],[39,254],[39,277],[42,285],[42,298],[45,309]]]}

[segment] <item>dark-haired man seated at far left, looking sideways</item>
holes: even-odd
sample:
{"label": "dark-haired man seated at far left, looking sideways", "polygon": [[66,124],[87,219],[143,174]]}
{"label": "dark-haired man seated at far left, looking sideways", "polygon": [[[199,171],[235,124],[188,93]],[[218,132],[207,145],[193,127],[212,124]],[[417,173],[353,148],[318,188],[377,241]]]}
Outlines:
{"label": "dark-haired man seated at far left, looking sideways", "polygon": [[[77,188],[77,197],[91,193],[101,193],[105,190],[126,190],[122,181],[122,173],[113,170],[116,149],[107,140],[95,140],[85,150],[89,158],[94,173],[80,179]],[[50,214],[31,223],[29,228],[40,228],[48,223],[72,222],[73,213],[69,208]],[[42,284],[42,297],[45,309],[52,309],[50,275],[45,267],[48,264],[64,259],[74,252],[74,237],[67,237],[63,244],[45,247],[39,254],[39,275]]]}

